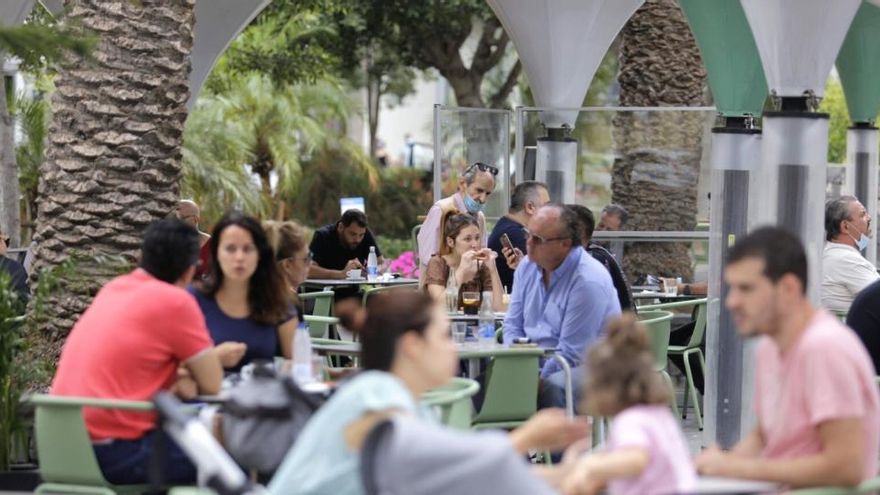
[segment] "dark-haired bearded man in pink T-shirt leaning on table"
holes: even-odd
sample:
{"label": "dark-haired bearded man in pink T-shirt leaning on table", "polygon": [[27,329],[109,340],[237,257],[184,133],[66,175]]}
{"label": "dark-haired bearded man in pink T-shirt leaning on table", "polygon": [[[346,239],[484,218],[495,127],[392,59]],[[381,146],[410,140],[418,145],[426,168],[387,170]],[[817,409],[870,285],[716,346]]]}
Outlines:
{"label": "dark-haired bearded man in pink T-shirt leaning on table", "polygon": [[702,452],[697,469],[791,487],[855,486],[875,476],[880,399],[873,364],[849,328],[807,299],[800,241],[783,229],[758,229],[731,250],[724,277],[739,332],[761,336],[758,423],[730,452]]}

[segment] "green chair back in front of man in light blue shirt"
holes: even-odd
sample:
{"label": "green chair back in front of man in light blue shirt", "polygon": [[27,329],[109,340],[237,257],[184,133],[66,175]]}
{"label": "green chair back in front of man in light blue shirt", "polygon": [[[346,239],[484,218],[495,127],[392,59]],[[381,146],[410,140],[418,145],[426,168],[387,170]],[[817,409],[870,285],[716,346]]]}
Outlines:
{"label": "green chair back in front of man in light blue shirt", "polygon": [[475,428],[507,428],[526,421],[537,410],[539,360],[537,347],[494,352],[486,370],[483,407],[474,418]]}

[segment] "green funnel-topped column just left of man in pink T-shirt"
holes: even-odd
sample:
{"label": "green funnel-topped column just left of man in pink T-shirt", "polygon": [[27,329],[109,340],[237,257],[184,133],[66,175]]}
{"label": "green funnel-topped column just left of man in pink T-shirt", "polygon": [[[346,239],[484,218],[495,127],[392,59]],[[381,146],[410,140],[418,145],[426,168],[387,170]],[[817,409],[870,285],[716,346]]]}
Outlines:
{"label": "green funnel-topped column just left of man in pink T-shirt", "polygon": [[767,84],[751,29],[739,2],[679,0],[700,48],[719,112],[712,129],[709,207],[709,291],[703,445],[733,446],[751,419],[752,366],[747,348],[724,307],[727,252],[746,234],[754,215],[750,191],[761,157],[755,127]]}

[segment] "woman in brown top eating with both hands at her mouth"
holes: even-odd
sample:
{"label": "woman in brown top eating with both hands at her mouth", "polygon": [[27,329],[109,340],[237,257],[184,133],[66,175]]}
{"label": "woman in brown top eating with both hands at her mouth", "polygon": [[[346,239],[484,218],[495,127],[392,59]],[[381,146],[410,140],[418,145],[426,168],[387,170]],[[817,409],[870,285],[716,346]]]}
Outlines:
{"label": "woman in brown top eating with both hands at her mouth", "polygon": [[[481,247],[477,220],[452,211],[443,221],[440,253],[431,257],[425,273],[425,290],[439,303],[446,300],[446,288],[458,287],[458,305],[463,292],[492,292],[492,309],[504,311],[501,279],[495,265],[495,251]],[[443,303],[445,304],[445,303]]]}

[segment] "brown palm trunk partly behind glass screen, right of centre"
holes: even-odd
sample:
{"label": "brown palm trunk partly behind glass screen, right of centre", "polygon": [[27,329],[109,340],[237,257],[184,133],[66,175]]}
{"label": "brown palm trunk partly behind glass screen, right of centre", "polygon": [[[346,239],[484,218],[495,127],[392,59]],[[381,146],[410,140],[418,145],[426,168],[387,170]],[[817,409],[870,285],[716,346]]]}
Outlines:
{"label": "brown palm trunk partly behind glass screen, right of centre", "polygon": [[[647,0],[621,33],[623,106],[704,104],[706,72],[687,21],[674,0]],[[701,113],[621,113],[615,118],[620,156],[612,172],[612,201],[630,212],[630,230],[694,230],[700,176]],[[692,276],[688,247],[638,243],[627,247],[631,277],[645,273]]]}

